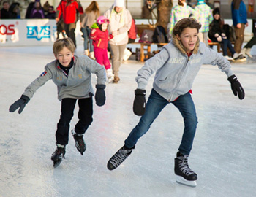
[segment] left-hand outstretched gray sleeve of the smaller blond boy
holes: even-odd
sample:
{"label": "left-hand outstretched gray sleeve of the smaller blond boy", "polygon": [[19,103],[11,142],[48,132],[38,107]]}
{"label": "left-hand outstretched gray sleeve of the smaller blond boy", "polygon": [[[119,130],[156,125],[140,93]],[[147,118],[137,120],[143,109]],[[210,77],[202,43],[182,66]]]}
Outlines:
{"label": "left-hand outstretched gray sleeve of the smaller blond boy", "polygon": [[45,82],[51,80],[53,78],[53,73],[50,71],[48,66],[45,66],[45,71],[37,77],[31,84],[25,89],[23,95],[28,96],[31,99],[34,93],[39,89],[42,85],[45,85]]}

